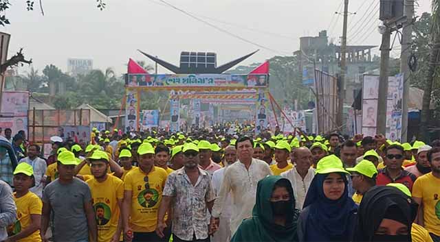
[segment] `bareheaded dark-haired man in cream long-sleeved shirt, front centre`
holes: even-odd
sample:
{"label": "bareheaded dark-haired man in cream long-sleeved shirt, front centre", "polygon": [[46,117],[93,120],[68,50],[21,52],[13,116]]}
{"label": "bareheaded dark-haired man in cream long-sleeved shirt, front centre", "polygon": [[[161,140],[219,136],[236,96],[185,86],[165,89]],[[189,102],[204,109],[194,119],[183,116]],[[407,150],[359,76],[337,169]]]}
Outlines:
{"label": "bareheaded dark-haired man in cream long-sleeved shirt, front centre", "polygon": [[272,175],[269,165],[263,160],[252,158],[254,142],[243,136],[235,144],[239,162],[225,170],[220,193],[212,208],[211,224],[213,230],[219,227],[219,217],[226,204],[228,193],[232,195],[231,234],[239,228],[241,221],[252,217],[256,197],[256,185],[259,180]]}

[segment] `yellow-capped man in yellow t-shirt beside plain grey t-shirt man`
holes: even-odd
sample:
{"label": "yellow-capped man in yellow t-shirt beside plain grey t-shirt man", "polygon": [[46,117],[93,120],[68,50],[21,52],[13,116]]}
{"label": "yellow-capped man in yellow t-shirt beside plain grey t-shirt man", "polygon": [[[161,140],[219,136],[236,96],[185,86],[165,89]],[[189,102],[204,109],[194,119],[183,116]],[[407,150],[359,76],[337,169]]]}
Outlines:
{"label": "yellow-capped man in yellow t-shirt beside plain grey t-shirt man", "polygon": [[109,156],[97,150],[89,157],[94,178],[87,180],[94,203],[98,242],[120,241],[122,232],[122,199],[124,182],[107,173]]}

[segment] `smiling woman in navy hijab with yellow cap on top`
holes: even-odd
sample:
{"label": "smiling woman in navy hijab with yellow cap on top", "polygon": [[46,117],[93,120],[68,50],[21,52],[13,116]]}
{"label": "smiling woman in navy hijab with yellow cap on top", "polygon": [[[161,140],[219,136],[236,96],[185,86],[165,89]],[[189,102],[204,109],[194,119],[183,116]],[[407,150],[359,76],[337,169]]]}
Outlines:
{"label": "smiling woman in navy hijab with yellow cap on top", "polygon": [[298,219],[299,241],[353,241],[358,206],[348,195],[347,174],[335,155],[318,162]]}

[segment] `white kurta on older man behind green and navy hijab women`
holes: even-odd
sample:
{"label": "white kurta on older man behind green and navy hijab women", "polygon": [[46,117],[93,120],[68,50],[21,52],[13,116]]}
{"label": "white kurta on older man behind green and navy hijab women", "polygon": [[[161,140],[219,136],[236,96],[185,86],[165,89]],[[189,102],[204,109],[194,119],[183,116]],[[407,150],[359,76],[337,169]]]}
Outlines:
{"label": "white kurta on older man behind green and navy hijab women", "polygon": [[295,196],[295,208],[298,210],[303,209],[305,196],[307,195],[307,191],[309,190],[311,180],[314,180],[315,177],[315,169],[310,168],[307,171],[307,175],[303,179],[298,171],[296,171],[296,167],[290,169],[289,171],[285,171],[281,173],[283,178],[287,178],[290,183],[292,183],[292,188],[294,189]]}

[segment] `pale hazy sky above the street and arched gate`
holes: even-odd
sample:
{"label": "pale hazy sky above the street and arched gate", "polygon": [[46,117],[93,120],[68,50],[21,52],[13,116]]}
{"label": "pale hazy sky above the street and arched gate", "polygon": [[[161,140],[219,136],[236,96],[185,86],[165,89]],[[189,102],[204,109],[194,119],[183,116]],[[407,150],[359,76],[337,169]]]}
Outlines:
{"label": "pale hazy sky above the street and arched gate", "polygon": [[[292,54],[299,48],[300,36],[317,36],[329,28],[329,36],[338,43],[342,33],[342,16],[334,13],[338,6],[342,12],[343,0],[165,0],[267,49],[225,34],[159,0],[105,0],[103,11],[96,8],[95,0],[42,1],[45,16],[38,1],[33,12],[25,10],[25,1],[13,1],[7,12],[11,25],[0,28],[12,34],[9,56],[23,47],[40,71],[46,64],[66,71],[67,58],[91,58],[94,68],[112,67],[125,73],[129,58],[151,63],[136,49],[177,65],[181,51],[216,52],[220,65],[261,49],[243,62],[250,64]],[[349,12],[358,12],[349,16],[349,45],[380,45],[380,34],[373,30],[379,23],[373,11],[376,3],[350,0]],[[416,15],[430,12],[430,0],[419,0],[416,11]],[[391,56],[398,53],[392,51]],[[159,68],[159,73],[165,72]]]}

